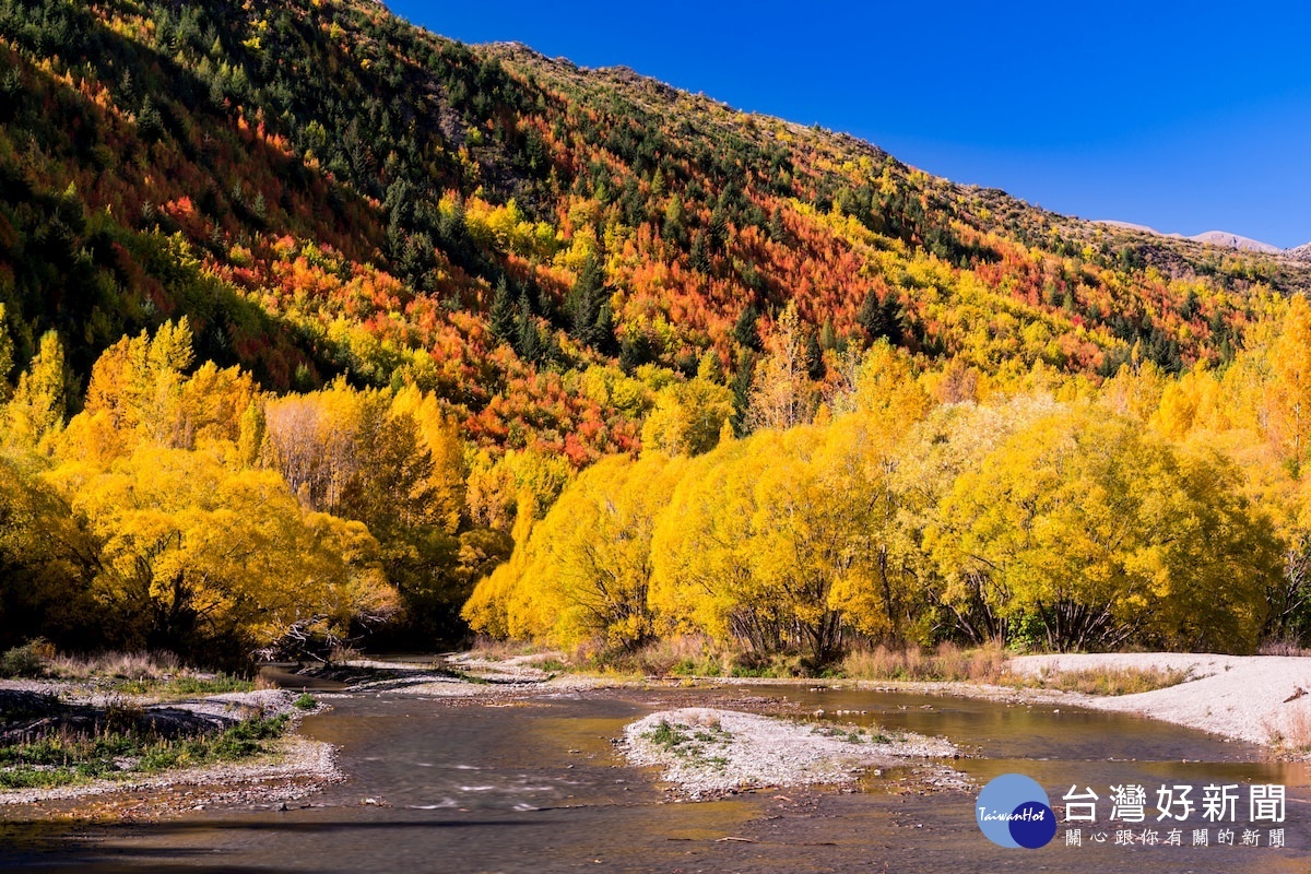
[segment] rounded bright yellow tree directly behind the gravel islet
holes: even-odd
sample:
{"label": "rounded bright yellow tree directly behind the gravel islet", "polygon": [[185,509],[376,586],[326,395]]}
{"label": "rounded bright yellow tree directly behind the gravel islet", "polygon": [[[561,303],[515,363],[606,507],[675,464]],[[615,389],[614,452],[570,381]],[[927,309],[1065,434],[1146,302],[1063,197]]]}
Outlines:
{"label": "rounded bright yellow tree directly behind the gravel islet", "polygon": [[760,431],[688,465],[653,539],[652,600],[680,630],[831,660],[856,628],[898,636],[911,577],[869,413]]}

